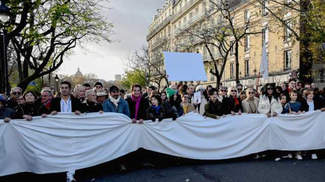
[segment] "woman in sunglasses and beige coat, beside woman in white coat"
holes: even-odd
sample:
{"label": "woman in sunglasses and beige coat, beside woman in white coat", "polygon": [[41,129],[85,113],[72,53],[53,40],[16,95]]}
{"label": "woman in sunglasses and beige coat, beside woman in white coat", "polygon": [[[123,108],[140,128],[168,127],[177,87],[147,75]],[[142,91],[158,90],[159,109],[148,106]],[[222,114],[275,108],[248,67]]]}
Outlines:
{"label": "woman in sunglasses and beige coat, beside woman in white coat", "polygon": [[243,112],[248,114],[258,114],[259,99],[255,97],[255,92],[252,88],[246,90],[246,99],[242,101]]}

